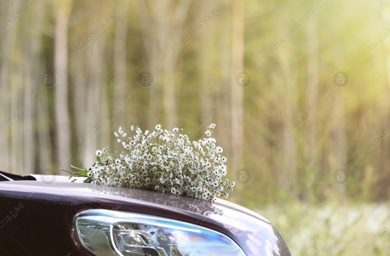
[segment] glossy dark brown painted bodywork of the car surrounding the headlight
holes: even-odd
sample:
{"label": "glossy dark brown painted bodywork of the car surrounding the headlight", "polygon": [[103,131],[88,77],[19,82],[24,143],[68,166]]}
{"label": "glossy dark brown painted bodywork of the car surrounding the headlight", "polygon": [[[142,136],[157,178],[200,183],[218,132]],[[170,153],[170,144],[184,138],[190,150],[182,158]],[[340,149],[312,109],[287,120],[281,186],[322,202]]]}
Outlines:
{"label": "glossy dark brown painted bodywork of the car surrounding the headlight", "polygon": [[62,179],[52,184],[2,181],[0,202],[0,255],[92,255],[80,246],[73,218],[77,212],[98,208],[205,226],[229,236],[247,256],[291,255],[282,236],[267,219],[222,199],[209,202]]}

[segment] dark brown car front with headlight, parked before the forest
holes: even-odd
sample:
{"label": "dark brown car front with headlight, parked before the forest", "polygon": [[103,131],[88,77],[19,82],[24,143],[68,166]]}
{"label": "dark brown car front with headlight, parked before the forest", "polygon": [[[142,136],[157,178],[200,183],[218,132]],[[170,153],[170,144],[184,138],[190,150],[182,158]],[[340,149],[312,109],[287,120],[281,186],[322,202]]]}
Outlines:
{"label": "dark brown car front with headlight, parked before the forest", "polygon": [[291,255],[267,219],[237,204],[84,179],[0,172],[0,255]]}

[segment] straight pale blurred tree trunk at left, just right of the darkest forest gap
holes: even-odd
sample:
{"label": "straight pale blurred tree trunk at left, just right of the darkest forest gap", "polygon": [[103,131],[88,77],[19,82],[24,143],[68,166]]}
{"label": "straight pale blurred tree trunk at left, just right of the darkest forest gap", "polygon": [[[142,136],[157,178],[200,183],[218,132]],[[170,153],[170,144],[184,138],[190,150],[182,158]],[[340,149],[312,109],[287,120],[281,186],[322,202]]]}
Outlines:
{"label": "straight pale blurred tree trunk at left, just right of the darkest forest gap", "polygon": [[55,85],[55,122],[56,122],[56,153],[57,174],[64,173],[59,168],[62,164],[71,164],[71,126],[69,118],[68,97],[68,21],[70,14],[69,3],[61,1],[58,4],[58,14],[55,21],[54,33],[54,73],[57,76]]}

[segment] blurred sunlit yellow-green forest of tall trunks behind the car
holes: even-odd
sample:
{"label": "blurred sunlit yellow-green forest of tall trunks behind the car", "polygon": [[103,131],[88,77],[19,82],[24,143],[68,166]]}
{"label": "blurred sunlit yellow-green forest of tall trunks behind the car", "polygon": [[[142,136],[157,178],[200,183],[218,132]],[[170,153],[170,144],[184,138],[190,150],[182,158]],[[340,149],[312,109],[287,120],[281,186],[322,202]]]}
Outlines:
{"label": "blurred sunlit yellow-green forest of tall trunks behind the car", "polygon": [[[113,135],[119,126],[128,134],[131,125],[179,127],[195,140],[215,123],[228,178],[237,184],[228,200],[290,212],[295,202],[303,209],[321,200],[367,207],[390,198],[390,38],[383,37],[390,35],[389,1],[0,0],[0,6],[2,171],[89,168],[97,149],[121,148]],[[349,77],[345,87],[333,82],[339,71]],[[333,178],[338,169],[349,174],[344,185]],[[274,213],[283,215],[282,208]],[[374,208],[367,211],[376,215]],[[275,214],[265,216],[279,223]],[[366,249],[373,234],[361,241]],[[352,255],[343,249],[335,255],[343,252]]]}

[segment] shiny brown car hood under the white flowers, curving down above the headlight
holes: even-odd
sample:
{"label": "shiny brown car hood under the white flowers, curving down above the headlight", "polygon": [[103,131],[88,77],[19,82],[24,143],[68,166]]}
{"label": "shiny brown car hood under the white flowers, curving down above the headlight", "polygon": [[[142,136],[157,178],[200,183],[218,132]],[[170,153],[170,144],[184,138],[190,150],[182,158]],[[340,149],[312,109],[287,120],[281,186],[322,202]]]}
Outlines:
{"label": "shiny brown car hood under the white flowers, curving down above the headlight", "polygon": [[91,183],[4,181],[0,190],[61,195],[93,202],[103,209],[153,214],[225,233],[247,256],[290,256],[282,236],[261,215],[226,200],[215,202]]}

